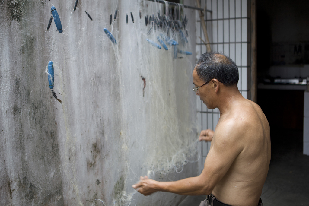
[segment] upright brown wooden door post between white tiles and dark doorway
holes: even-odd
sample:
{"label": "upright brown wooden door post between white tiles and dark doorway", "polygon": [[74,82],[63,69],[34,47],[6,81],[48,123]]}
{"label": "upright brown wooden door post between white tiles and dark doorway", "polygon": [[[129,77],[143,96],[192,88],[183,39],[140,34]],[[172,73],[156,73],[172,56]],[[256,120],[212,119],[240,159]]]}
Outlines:
{"label": "upright brown wooden door post between white tiles and dark doorway", "polygon": [[256,103],[257,98],[257,71],[256,71],[256,0],[250,2],[251,15],[251,79],[250,95],[251,100]]}

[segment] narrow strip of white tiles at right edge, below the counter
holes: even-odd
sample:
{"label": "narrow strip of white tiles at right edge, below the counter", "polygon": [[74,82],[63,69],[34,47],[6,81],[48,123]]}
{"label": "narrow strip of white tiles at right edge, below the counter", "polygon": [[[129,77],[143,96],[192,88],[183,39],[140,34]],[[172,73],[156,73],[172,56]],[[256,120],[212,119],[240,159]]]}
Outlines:
{"label": "narrow strip of white tiles at right edge, below the counter", "polygon": [[309,92],[304,92],[304,150],[309,155]]}

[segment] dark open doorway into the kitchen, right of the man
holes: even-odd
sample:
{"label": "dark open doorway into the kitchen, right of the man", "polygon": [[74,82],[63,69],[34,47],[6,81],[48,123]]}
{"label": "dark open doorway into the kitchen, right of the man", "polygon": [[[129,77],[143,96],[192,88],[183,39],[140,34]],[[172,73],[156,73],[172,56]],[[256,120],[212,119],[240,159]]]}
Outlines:
{"label": "dark open doorway into the kitchen, right of the man", "polygon": [[256,7],[257,103],[269,121],[272,148],[261,197],[264,205],[309,205],[301,85],[309,76],[309,2],[257,0]]}

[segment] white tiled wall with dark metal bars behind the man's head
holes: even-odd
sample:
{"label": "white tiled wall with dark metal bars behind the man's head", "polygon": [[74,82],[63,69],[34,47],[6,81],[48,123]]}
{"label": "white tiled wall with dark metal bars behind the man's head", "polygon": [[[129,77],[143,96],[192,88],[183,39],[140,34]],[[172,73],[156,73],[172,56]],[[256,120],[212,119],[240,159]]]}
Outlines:
{"label": "white tiled wall with dark metal bars behind the man's head", "polygon": [[[248,45],[250,46],[250,33],[248,33],[248,0],[201,0],[201,7],[205,5],[208,10],[205,15],[206,27],[211,43],[212,51],[221,52],[229,56],[238,66],[239,82],[238,88],[241,94],[248,98],[249,82],[248,74],[250,74],[250,61],[248,61]],[[205,41],[204,33],[201,29],[201,22],[198,11],[196,11],[197,19],[197,44],[196,59],[206,52],[206,46],[200,40],[201,37]],[[220,117],[218,108],[208,110],[197,96],[197,112],[199,129],[216,128]],[[210,148],[210,142],[201,144],[201,164],[204,165],[205,158]]]}

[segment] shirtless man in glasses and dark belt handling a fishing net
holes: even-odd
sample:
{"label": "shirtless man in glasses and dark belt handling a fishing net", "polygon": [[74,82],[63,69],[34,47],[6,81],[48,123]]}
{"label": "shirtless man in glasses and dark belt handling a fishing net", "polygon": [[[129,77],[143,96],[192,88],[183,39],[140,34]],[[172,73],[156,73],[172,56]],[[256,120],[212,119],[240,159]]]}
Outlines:
{"label": "shirtless man in glasses and dark belt handling a fishing net", "polygon": [[204,169],[197,177],[157,182],[146,176],[132,187],[144,195],[155,191],[209,195],[201,205],[257,206],[271,156],[270,129],[261,108],[237,88],[236,64],[220,53],[205,53],[193,70],[193,90],[208,109],[219,108],[215,131],[203,130],[211,141]]}

